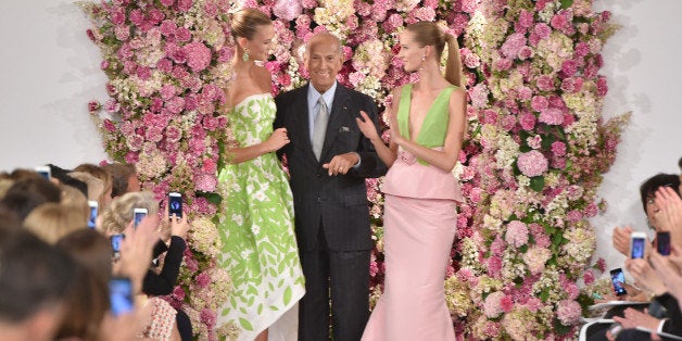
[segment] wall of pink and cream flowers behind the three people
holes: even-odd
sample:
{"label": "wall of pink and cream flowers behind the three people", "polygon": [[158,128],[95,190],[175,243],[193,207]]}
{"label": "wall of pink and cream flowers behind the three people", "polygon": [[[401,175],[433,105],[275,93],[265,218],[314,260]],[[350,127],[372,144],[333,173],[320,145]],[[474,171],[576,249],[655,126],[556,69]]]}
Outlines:
{"label": "wall of pink and cream flowers behind the three people", "polygon": [[[305,83],[302,42],[319,30],[345,43],[338,80],[377,100],[414,75],[395,58],[397,33],[438,21],[459,37],[468,79],[469,136],[453,176],[467,202],[447,268],[446,296],[460,339],[563,339],[577,331],[596,277],[596,197],[627,116],[602,119],[606,79],[599,54],[615,29],[589,0],[114,0],[81,2],[101,49],[111,99],[90,102],[112,160],[136,163],[157,199],[186,194],[193,229],[181,282],[182,306],[199,339],[216,329],[229,274],[215,267],[216,169],[229,141],[223,88],[232,55],[227,15],[258,8],[275,20],[266,63],[275,93]],[[100,111],[103,109],[103,112]],[[387,137],[388,138],[388,137]],[[381,179],[367,180],[377,248],[372,303],[381,292]],[[598,262],[597,262],[598,263]],[[604,265],[601,264],[601,270]]]}

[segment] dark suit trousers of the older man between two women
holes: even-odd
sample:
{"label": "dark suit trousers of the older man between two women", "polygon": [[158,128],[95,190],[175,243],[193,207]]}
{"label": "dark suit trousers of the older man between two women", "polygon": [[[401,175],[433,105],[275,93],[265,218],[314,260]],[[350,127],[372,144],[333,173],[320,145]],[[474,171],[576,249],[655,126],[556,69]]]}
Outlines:
{"label": "dark suit trousers of the older man between two women", "polygon": [[358,341],[369,318],[370,250],[329,250],[320,226],[317,247],[300,254],[305,295],[299,302],[299,340],[329,340],[331,306],[333,340]]}

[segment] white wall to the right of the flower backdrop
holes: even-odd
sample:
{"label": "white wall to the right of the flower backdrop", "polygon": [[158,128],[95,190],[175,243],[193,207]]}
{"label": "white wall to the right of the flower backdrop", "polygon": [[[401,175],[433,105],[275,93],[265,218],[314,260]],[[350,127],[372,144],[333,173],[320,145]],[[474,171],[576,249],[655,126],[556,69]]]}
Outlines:
{"label": "white wall to the right of the flower backdrop", "polygon": [[608,211],[592,219],[597,228],[597,253],[608,267],[622,265],[623,256],[609,252],[615,226],[631,225],[646,231],[639,187],[657,173],[679,174],[682,156],[682,1],[605,0],[597,10],[612,12],[621,29],[604,49],[609,92],[604,105],[608,116],[632,111],[616,163],[604,176],[599,194]]}

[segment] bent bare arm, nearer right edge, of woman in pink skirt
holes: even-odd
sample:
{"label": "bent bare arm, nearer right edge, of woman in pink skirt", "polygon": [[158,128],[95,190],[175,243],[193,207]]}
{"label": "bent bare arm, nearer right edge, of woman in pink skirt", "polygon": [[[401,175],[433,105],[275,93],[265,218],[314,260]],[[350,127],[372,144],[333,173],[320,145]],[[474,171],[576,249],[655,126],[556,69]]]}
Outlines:
{"label": "bent bare arm, nearer right edge, of woman in pink skirt", "polygon": [[[450,121],[447,123],[447,135],[442,151],[426,148],[402,136],[395,136],[395,143],[415,154],[429,164],[442,169],[443,172],[452,172],[455,167],[462,142],[464,140],[464,131],[466,126],[466,94],[464,90],[456,89],[450,96]],[[393,132],[393,131],[391,131]],[[393,135],[391,136],[393,139]]]}

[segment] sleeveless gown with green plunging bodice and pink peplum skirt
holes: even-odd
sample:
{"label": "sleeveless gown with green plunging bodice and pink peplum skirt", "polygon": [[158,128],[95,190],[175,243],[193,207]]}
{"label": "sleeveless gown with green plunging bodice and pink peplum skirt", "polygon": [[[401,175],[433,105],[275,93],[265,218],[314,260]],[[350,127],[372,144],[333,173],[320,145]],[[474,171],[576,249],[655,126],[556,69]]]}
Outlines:
{"label": "sleeveless gown with green plunging bodice and pink peplum skirt", "polygon": [[[441,150],[455,87],[445,88],[431,104],[416,142]],[[403,87],[397,109],[401,135],[409,139],[412,85]],[[445,269],[456,228],[459,185],[414,154],[400,150],[381,190],[384,203],[384,289],[363,340],[454,340],[445,303]]]}

